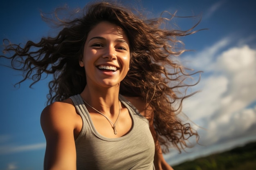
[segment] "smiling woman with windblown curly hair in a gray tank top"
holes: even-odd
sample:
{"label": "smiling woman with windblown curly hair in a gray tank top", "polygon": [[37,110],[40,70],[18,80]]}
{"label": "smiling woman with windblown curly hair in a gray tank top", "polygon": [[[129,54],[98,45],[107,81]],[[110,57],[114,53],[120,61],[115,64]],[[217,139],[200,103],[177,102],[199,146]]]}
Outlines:
{"label": "smiling woman with windblown curly hair in a gray tank top", "polygon": [[41,114],[45,170],[172,170],[160,146],[181,150],[187,136],[198,137],[177,117],[189,97],[179,91],[193,84],[184,84],[190,75],[173,60],[184,52],[173,49],[175,38],[191,30],[161,29],[168,20],[107,2],[85,11],[60,20],[56,37],[5,49],[15,52],[9,58],[24,80],[54,75]]}

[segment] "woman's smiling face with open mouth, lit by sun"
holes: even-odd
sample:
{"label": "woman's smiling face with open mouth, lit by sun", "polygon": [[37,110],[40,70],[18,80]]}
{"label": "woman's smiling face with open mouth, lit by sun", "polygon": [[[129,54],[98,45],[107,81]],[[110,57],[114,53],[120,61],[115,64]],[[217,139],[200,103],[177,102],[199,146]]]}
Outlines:
{"label": "woman's smiling face with open mouth, lit by sun", "polygon": [[121,27],[100,22],[88,34],[83,60],[87,84],[102,87],[118,86],[130,64],[128,37]]}

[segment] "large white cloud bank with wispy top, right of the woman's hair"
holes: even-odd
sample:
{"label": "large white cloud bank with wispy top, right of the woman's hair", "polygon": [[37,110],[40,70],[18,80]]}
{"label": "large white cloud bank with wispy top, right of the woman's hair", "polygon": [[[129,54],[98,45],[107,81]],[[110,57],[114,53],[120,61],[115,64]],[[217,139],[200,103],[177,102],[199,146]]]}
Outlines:
{"label": "large white cloud bank with wispy top, right of the woman's hair", "polygon": [[[201,92],[184,101],[183,112],[206,129],[199,128],[198,132],[199,143],[207,147],[208,154],[214,151],[209,148],[231,148],[255,139],[256,106],[252,104],[256,102],[256,49],[244,45],[222,51],[229,42],[224,38],[196,56],[184,57],[191,61],[190,68],[207,70],[198,86]],[[196,146],[189,152],[205,149]],[[193,154],[166,155],[169,160],[181,160],[182,156],[192,158]]]}

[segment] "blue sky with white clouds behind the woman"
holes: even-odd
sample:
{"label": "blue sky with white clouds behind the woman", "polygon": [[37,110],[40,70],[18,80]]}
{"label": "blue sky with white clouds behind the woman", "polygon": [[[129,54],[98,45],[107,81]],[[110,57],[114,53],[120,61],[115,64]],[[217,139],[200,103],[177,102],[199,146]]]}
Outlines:
{"label": "blue sky with white clouds behind the woman", "polygon": [[[39,41],[53,32],[40,18],[40,10],[52,12],[67,3],[83,7],[87,0],[1,1],[0,39],[13,43]],[[128,3],[134,4],[135,1]],[[208,28],[182,40],[186,49],[181,61],[202,70],[202,79],[192,90],[201,92],[184,102],[183,111],[200,133],[200,145],[165,155],[171,165],[256,140],[256,11],[250,0],[140,0],[139,4],[159,16],[177,11],[179,16],[202,15],[197,29]],[[139,6],[139,5],[138,5]],[[199,18],[175,18],[188,29]],[[1,51],[2,51],[1,46]],[[8,61],[0,59],[1,64]],[[45,138],[40,113],[46,106],[49,77],[29,88],[13,84],[21,73],[0,66],[0,170],[43,169]],[[182,115],[181,115],[182,116]],[[188,119],[185,116],[182,119]],[[201,128],[199,128],[201,127]],[[193,142],[193,141],[191,141]]]}

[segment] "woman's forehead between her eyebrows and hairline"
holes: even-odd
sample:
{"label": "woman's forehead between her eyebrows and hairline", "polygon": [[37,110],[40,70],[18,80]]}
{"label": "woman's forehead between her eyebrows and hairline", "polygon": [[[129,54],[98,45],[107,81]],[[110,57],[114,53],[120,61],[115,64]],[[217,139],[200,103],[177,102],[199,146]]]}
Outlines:
{"label": "woman's forehead between her eyebrows and hairline", "polygon": [[97,36],[110,36],[111,38],[124,39],[128,43],[128,37],[125,31],[120,26],[117,26],[116,24],[112,24],[107,21],[100,22],[99,24],[94,26],[94,28],[89,32],[87,40],[90,40],[90,38]]}

